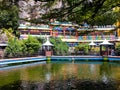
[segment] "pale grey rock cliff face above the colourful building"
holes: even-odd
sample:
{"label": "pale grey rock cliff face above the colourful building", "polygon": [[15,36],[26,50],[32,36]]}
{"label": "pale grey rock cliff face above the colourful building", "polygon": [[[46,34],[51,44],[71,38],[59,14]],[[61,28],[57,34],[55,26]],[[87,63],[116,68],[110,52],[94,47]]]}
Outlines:
{"label": "pale grey rock cliff face above the colourful building", "polygon": [[[47,2],[40,2],[35,0],[19,0],[19,16],[24,19],[37,19],[43,14],[50,11],[50,9],[59,8],[62,6],[61,0],[56,1],[52,7],[43,7]],[[20,22],[20,23],[23,23]]]}

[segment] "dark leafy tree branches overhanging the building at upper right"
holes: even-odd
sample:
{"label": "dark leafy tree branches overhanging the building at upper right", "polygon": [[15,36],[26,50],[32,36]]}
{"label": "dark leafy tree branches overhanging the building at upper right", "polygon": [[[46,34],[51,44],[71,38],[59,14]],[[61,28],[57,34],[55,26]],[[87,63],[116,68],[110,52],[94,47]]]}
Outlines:
{"label": "dark leafy tree branches overhanging the building at upper right", "polygon": [[[41,1],[41,0],[35,0]],[[119,0],[42,0],[49,7],[47,14],[42,18],[56,18],[58,20],[81,23],[89,21],[90,24],[113,24],[117,14],[113,8],[120,7]],[[56,2],[62,2],[62,5]],[[59,6],[59,7],[58,7]],[[107,21],[106,21],[107,19]],[[100,22],[100,23],[96,23]]]}

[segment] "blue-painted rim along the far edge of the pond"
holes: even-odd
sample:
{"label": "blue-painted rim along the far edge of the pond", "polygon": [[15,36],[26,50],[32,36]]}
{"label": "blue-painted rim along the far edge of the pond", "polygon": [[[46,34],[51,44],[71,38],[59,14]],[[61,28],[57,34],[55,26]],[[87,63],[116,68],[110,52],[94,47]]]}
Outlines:
{"label": "blue-painted rim along the far edge of the pond", "polygon": [[[120,57],[107,57],[107,61],[120,61]],[[102,56],[51,56],[51,61],[104,61]],[[3,59],[0,60],[0,65],[35,62],[35,61],[46,61],[47,57],[28,57],[20,59]]]}

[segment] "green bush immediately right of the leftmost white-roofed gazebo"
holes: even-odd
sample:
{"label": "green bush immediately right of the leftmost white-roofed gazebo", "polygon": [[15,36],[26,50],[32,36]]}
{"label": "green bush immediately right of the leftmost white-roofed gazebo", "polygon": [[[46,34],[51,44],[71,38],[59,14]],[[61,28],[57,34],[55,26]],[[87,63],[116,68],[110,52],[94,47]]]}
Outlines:
{"label": "green bush immediately right of the leftmost white-roofed gazebo", "polygon": [[56,55],[66,55],[68,54],[68,45],[65,42],[62,42],[60,38],[50,38],[50,42],[54,45],[53,50]]}

